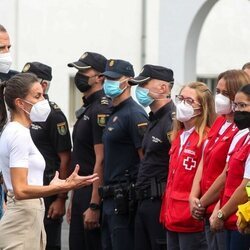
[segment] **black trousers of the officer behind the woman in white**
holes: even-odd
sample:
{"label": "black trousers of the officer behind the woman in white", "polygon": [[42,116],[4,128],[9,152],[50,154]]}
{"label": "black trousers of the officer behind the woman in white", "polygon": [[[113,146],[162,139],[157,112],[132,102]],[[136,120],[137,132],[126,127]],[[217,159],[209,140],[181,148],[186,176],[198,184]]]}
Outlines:
{"label": "black trousers of the officer behind the woman in white", "polygon": [[46,250],[61,249],[61,231],[62,231],[63,218],[59,219],[47,218],[49,207],[55,199],[56,196],[50,196],[44,198],[44,205],[45,205],[44,228],[47,236]]}

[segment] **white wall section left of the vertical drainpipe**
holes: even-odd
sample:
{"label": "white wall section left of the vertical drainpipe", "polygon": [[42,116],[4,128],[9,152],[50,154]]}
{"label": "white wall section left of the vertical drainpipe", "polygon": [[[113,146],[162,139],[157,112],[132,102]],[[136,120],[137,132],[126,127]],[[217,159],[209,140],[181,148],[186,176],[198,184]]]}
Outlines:
{"label": "white wall section left of the vertical drainpipe", "polygon": [[138,73],[140,20],[141,1],[134,0],[1,0],[0,8],[0,23],[13,43],[14,68],[21,70],[27,61],[52,66],[50,98],[66,115],[68,78],[75,73],[67,63],[95,51],[130,61]]}

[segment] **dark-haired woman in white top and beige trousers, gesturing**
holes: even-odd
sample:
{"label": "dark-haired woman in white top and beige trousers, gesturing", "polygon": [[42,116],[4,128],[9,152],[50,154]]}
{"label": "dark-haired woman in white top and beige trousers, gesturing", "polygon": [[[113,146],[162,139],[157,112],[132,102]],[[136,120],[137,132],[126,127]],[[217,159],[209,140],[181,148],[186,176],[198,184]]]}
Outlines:
{"label": "dark-haired woman in white top and beige trousers, gesturing", "polygon": [[98,177],[79,176],[76,166],[66,180],[59,179],[57,172],[50,185],[43,186],[45,161],[29,131],[31,122],[46,121],[50,113],[41,84],[33,74],[18,74],[1,83],[0,95],[3,93],[11,121],[0,138],[0,166],[8,191],[7,210],[0,221],[0,249],[45,249],[41,197],[90,185]]}

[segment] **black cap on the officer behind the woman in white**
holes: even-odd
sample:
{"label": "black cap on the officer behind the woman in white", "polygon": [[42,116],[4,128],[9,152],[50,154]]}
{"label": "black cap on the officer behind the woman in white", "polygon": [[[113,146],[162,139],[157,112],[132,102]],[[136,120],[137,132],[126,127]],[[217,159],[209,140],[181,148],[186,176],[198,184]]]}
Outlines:
{"label": "black cap on the officer behind the woman in white", "polygon": [[46,81],[52,80],[52,68],[40,62],[28,62],[24,65],[22,73],[33,73]]}

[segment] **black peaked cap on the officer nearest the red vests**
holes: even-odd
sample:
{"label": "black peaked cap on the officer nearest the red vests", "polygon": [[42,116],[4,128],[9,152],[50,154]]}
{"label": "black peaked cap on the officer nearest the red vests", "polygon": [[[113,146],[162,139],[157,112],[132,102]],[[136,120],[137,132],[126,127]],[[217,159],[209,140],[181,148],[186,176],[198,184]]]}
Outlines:
{"label": "black peaked cap on the officer nearest the red vests", "polygon": [[129,79],[130,85],[143,84],[151,79],[157,79],[171,84],[174,83],[174,73],[172,69],[162,66],[146,64],[143,66],[139,76]]}

